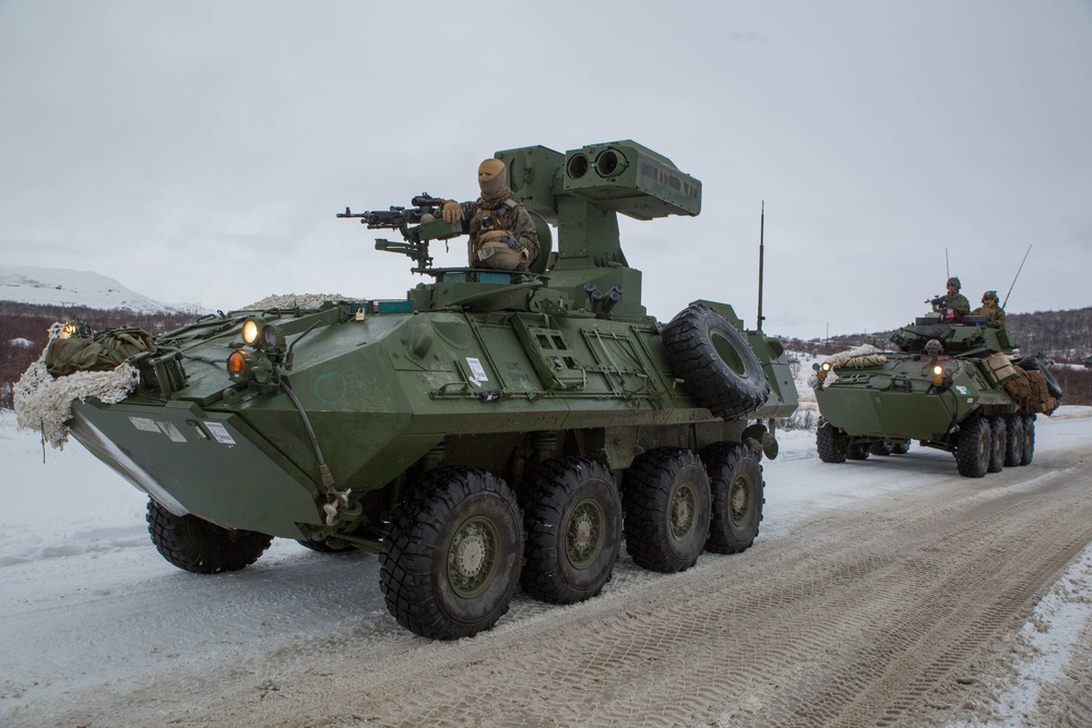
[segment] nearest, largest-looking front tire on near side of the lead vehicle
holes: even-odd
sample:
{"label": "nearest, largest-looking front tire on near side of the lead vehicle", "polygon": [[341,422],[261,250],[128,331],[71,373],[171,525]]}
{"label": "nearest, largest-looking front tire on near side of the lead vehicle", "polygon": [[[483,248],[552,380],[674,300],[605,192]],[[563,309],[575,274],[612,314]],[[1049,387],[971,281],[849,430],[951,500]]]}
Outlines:
{"label": "nearest, largest-looking front tire on near side of the lead vehicle", "polygon": [[476,468],[439,468],[395,505],[380,586],[399,624],[458,640],[508,611],[522,562],[523,516],[505,481]]}

